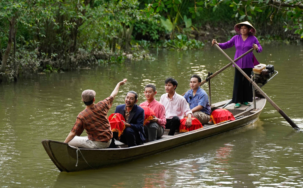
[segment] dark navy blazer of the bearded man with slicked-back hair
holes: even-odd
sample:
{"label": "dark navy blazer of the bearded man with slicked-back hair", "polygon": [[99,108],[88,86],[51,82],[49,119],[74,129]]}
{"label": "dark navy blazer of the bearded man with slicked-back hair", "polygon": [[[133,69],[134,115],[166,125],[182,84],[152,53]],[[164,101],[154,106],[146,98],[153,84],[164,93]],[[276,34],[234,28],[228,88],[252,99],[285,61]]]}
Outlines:
{"label": "dark navy blazer of the bearded man with slicked-back hair", "polygon": [[[122,114],[124,116],[125,113],[125,104],[120,104],[116,107],[115,113]],[[144,109],[139,107],[137,104],[134,104],[134,107],[129,114],[128,121],[126,123],[131,124],[131,128],[135,131],[138,131],[144,143],[146,136],[143,130],[143,122],[144,122]]]}

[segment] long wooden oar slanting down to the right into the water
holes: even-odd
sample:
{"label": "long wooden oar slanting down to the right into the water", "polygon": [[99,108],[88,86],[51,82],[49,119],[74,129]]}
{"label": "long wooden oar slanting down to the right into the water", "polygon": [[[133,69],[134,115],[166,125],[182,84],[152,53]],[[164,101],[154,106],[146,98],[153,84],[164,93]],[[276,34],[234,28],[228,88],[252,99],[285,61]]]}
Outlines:
{"label": "long wooden oar slanting down to the right into the water", "polygon": [[232,61],[232,59],[217,45],[215,44],[215,47],[218,48],[219,51],[222,52],[222,54],[225,55],[225,57],[233,64],[235,65],[235,67],[245,76],[245,78],[247,78],[249,80],[249,82],[255,86],[255,88],[261,93],[261,95],[263,95],[265,97],[265,99],[284,117],[284,119],[291,125],[291,127],[293,127],[296,130],[299,130],[300,128],[281,110],[280,107],[278,107],[277,104],[274,103],[274,101],[271,100],[271,98],[269,98],[262,90],[261,88],[254,82],[251,80],[251,78],[245,74],[244,71],[242,71],[242,69],[234,62]]}

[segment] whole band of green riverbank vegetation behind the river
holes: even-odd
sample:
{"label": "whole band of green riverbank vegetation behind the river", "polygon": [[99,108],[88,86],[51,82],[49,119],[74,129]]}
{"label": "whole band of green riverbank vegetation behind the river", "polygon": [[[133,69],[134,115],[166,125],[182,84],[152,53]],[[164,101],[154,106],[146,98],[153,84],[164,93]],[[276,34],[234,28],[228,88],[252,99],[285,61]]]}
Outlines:
{"label": "whole band of green riverbank vegetation behind the river", "polygon": [[99,64],[153,60],[149,49],[201,50],[250,21],[261,42],[303,37],[300,1],[7,0],[0,7],[0,81]]}

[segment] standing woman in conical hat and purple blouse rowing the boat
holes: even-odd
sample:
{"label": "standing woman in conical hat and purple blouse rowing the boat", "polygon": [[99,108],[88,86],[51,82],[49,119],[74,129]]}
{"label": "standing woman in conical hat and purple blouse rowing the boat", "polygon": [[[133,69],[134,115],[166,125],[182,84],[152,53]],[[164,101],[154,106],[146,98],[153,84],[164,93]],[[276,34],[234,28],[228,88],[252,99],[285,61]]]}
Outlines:
{"label": "standing woman in conical hat and purple blouse rowing the boat", "polygon": [[[256,34],[256,29],[248,21],[236,24],[234,29],[239,35],[232,37],[229,41],[225,43],[217,43],[214,39],[212,41],[212,44],[216,43],[221,49],[231,48],[235,45],[235,59],[250,50],[251,47],[253,47],[257,51],[257,53],[260,53],[262,51],[262,47],[258,39],[254,36]],[[259,64],[252,51],[235,63],[249,77],[254,66]],[[232,94],[232,102],[236,104],[235,108],[240,107],[241,104],[250,106],[251,104],[248,102],[252,102],[252,99],[252,84],[250,84],[249,81],[243,76],[243,74],[241,74],[241,72],[238,71],[238,69],[236,68],[234,91]]]}

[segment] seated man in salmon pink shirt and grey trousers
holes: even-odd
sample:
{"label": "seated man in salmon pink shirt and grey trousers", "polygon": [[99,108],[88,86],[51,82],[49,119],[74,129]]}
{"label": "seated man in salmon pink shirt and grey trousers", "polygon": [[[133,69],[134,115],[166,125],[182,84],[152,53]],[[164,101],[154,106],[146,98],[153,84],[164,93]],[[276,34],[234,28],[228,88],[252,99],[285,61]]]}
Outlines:
{"label": "seated man in salmon pink shirt and grey trousers", "polygon": [[139,105],[141,107],[150,107],[155,112],[154,118],[148,121],[143,127],[149,142],[155,141],[157,138],[163,136],[166,124],[165,108],[155,99],[155,94],[157,94],[156,87],[152,84],[146,85],[144,95],[147,101]]}

